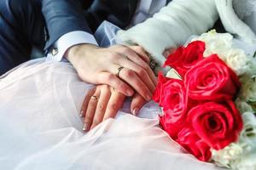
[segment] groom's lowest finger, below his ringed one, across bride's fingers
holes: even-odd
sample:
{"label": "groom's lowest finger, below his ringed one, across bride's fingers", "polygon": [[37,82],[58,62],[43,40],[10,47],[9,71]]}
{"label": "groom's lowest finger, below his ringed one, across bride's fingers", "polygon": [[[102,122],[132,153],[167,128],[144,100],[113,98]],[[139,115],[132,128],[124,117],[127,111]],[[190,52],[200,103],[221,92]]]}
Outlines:
{"label": "groom's lowest finger, below his ringed one, across bride's fingers", "polygon": [[[118,70],[118,66],[115,66],[114,68],[114,71]],[[119,77],[116,77],[110,72],[101,72],[96,78],[99,84],[108,84],[109,86],[116,88],[117,91],[119,91],[121,94],[124,94],[126,96],[132,96],[134,94],[133,89],[127,83],[125,83],[124,81],[119,79]]]}

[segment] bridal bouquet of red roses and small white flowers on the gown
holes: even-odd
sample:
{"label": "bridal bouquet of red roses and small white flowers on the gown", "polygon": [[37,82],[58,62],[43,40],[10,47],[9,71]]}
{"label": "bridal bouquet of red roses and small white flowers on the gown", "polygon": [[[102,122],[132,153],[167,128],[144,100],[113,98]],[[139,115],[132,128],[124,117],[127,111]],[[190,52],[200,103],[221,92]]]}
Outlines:
{"label": "bridal bouquet of red roses and small white flowers on the gown", "polygon": [[161,127],[196,158],[255,170],[256,60],[232,45],[229,33],[209,31],[177,48],[153,99]]}

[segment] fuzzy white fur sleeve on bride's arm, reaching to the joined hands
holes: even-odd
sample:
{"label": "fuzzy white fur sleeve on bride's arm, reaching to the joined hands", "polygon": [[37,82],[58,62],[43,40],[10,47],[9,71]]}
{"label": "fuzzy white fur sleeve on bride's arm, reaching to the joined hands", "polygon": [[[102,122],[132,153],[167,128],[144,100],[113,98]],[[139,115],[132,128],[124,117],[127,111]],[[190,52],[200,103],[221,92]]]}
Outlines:
{"label": "fuzzy white fur sleeve on bride's arm, reaching to the joined hands", "polygon": [[143,46],[158,65],[163,65],[165,49],[177,48],[191,35],[207,31],[217,19],[214,0],[172,0],[152,18],[119,31],[117,38],[125,44]]}

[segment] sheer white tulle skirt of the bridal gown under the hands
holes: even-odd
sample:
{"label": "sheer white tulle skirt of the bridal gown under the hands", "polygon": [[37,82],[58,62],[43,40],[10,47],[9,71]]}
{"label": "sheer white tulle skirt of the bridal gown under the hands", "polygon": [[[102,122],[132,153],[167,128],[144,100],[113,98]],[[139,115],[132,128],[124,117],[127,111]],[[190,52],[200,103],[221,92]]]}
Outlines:
{"label": "sheer white tulle skirt of the bridal gown under the hands", "polygon": [[160,108],[139,116],[129,101],[115,119],[84,133],[79,109],[93,86],[68,63],[35,59],[0,79],[2,170],[213,170],[158,127]]}

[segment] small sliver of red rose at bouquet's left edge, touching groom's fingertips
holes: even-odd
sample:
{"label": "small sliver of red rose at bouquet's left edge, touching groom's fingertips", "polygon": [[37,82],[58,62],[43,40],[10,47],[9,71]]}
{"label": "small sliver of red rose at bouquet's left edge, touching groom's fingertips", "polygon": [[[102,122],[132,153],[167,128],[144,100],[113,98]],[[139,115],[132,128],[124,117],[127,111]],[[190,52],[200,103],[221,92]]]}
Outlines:
{"label": "small sliver of red rose at bouquet's left edge, touching groom's fingertips", "polygon": [[152,99],[154,99],[155,102],[160,102],[162,86],[165,82],[167,82],[170,79],[171,78],[164,77],[162,72],[158,73],[158,82],[157,82],[156,88],[154,89],[154,94],[153,94],[153,97],[152,97]]}

